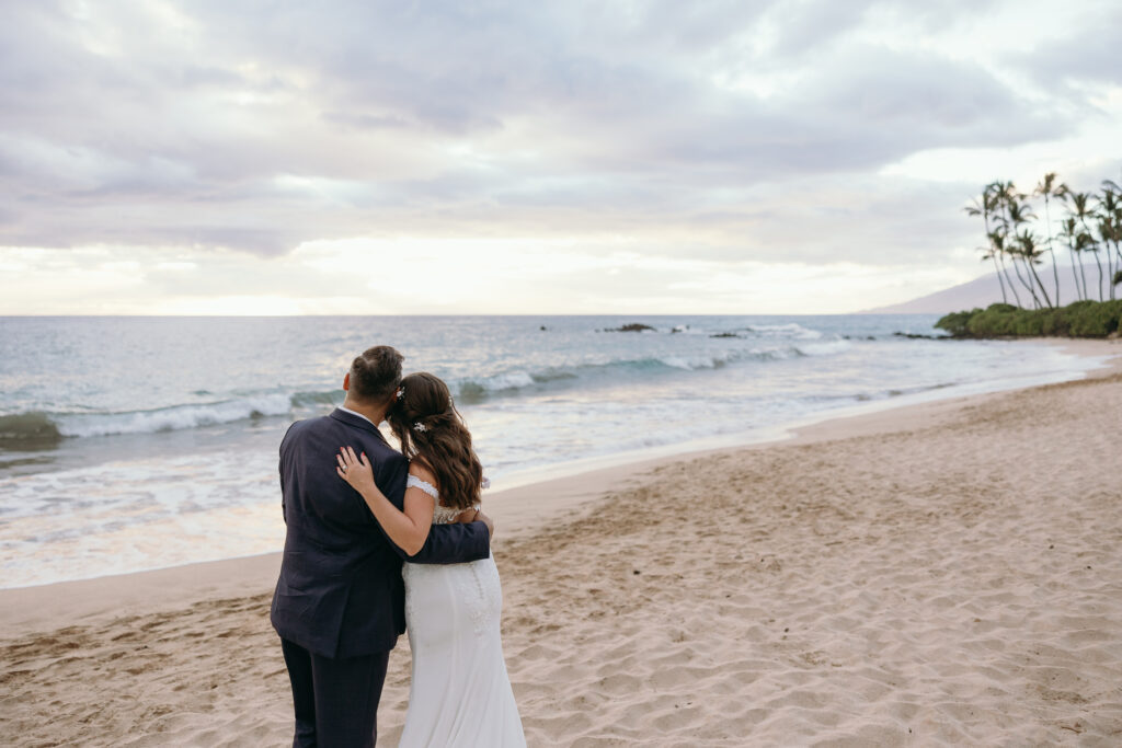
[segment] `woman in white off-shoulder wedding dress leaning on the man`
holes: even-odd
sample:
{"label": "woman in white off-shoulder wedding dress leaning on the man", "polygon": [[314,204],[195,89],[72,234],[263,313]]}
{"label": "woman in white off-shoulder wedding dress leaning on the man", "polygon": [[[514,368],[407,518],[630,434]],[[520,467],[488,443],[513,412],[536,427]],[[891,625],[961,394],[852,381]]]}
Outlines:
{"label": "woman in white off-shoulder wedding dress leaning on the man", "polygon": [[[413,555],[432,525],[470,523],[480,514],[482,467],[448,386],[433,375],[405,377],[386,421],[410,458],[405,511],[378,490],[366,454],[343,447],[338,471],[362,495],[389,539]],[[402,576],[413,674],[398,745],[525,746],[503,659],[503,590],[494,558],[406,562]]]}

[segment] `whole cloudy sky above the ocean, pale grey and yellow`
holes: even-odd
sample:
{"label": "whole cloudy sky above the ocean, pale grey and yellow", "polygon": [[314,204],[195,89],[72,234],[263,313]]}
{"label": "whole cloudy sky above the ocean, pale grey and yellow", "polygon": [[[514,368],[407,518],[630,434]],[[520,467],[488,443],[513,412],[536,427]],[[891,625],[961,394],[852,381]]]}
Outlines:
{"label": "whole cloudy sky above the ocean, pale grey and yellow", "polygon": [[0,315],[848,313],[1122,179],[1116,0],[0,0]]}

